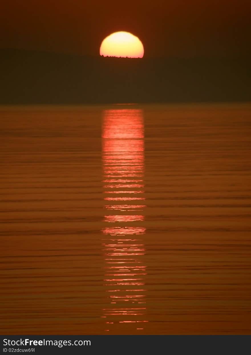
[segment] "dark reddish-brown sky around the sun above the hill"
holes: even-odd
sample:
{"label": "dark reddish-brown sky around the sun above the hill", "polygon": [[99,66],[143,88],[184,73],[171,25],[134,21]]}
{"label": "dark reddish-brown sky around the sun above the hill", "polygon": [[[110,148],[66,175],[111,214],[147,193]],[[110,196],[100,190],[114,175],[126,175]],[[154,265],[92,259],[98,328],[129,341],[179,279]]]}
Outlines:
{"label": "dark reddish-brown sky around the sun above the hill", "polygon": [[0,48],[98,55],[115,31],[137,35],[145,56],[250,52],[247,0],[2,0]]}

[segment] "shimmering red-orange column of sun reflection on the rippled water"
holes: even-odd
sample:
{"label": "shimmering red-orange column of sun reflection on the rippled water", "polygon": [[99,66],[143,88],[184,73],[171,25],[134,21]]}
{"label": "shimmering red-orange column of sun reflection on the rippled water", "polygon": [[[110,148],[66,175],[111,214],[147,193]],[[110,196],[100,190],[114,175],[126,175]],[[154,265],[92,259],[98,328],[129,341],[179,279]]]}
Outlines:
{"label": "shimmering red-orange column of sun reflection on the rippled water", "polygon": [[146,230],[142,225],[145,205],[136,202],[145,200],[142,110],[105,110],[102,138],[104,200],[112,201],[105,205],[102,229],[107,236],[102,240],[107,293],[102,318],[106,318],[105,331],[133,334],[144,330],[139,323],[148,322],[145,246],[140,238]]}

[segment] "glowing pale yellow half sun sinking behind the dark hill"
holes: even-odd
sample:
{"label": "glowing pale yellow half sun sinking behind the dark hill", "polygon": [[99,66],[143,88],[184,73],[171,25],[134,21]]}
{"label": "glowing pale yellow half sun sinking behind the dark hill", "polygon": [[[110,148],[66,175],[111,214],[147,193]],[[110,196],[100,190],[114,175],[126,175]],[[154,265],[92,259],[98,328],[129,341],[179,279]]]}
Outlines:
{"label": "glowing pale yellow half sun sinking behind the dark hill", "polygon": [[144,47],[140,39],[129,32],[114,32],[107,36],[100,46],[104,57],[142,58]]}

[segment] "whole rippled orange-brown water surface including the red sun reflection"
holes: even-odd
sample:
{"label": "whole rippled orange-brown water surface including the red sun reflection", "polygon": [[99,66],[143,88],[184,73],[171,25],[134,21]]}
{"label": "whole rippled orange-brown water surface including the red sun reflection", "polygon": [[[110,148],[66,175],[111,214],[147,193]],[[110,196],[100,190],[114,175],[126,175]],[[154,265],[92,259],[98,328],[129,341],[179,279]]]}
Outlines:
{"label": "whole rippled orange-brown water surface including the red sun reflection", "polygon": [[1,107],[1,333],[250,334],[250,109]]}

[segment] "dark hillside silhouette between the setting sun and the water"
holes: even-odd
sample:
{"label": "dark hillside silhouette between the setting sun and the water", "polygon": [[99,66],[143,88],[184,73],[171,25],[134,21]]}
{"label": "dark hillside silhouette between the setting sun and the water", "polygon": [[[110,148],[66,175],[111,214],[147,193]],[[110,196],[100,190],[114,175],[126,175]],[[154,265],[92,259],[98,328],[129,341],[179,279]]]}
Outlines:
{"label": "dark hillside silhouette between the setting sun and the water", "polygon": [[251,100],[251,58],[103,58],[0,50],[1,104]]}

